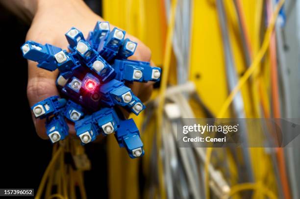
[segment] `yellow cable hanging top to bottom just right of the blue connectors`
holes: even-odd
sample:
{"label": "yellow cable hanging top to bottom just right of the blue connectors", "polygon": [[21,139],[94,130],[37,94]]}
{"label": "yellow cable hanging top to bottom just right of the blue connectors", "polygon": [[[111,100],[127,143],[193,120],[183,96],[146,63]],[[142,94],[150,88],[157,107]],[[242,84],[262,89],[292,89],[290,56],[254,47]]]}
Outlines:
{"label": "yellow cable hanging top to bottom just right of the blue connectors", "polygon": [[172,40],[173,40],[173,35],[174,35],[174,26],[175,26],[175,15],[176,15],[176,5],[177,5],[177,0],[172,0],[172,5],[171,5],[171,12],[170,12],[170,21],[168,25],[168,30],[167,30],[167,39],[166,39],[166,45],[165,45],[165,52],[164,52],[164,61],[163,61],[163,73],[162,73],[162,78],[161,78],[161,86],[160,86],[160,91],[159,91],[159,104],[157,108],[157,135],[156,135],[156,143],[157,143],[157,148],[158,148],[158,177],[159,177],[159,190],[161,194],[161,198],[165,199],[166,198],[166,193],[164,190],[164,178],[163,178],[163,163],[162,159],[160,156],[160,147],[161,147],[161,125],[162,125],[162,116],[163,116],[163,107],[165,103],[165,91],[167,89],[167,83],[168,83],[168,75],[169,75],[169,69],[170,69],[170,62],[171,62],[171,54],[172,54]]}

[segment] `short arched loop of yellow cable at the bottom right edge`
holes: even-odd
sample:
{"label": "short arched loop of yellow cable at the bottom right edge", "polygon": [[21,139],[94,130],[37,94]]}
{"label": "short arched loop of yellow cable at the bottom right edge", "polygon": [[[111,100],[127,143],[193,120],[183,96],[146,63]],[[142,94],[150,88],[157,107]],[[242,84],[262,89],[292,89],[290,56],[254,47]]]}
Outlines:
{"label": "short arched loop of yellow cable at the bottom right edge", "polygon": [[266,187],[260,187],[257,183],[242,183],[242,184],[237,184],[233,186],[229,192],[229,194],[226,196],[226,198],[229,198],[233,196],[234,194],[237,194],[238,192],[241,191],[246,191],[246,190],[258,190],[261,189],[262,194],[267,196],[270,199],[277,199],[275,194],[269,190]]}

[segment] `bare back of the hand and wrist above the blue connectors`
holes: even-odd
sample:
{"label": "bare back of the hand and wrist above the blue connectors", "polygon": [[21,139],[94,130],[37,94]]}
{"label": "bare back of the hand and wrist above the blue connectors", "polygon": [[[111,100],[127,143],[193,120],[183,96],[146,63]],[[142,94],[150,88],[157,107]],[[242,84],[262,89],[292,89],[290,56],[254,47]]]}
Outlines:
{"label": "bare back of the hand and wrist above the blue connectors", "polygon": [[47,42],[64,47],[65,40],[61,41],[62,35],[72,26],[87,36],[98,20],[101,18],[83,0],[37,0],[37,11],[27,39],[35,37],[37,40],[38,37],[40,43]]}

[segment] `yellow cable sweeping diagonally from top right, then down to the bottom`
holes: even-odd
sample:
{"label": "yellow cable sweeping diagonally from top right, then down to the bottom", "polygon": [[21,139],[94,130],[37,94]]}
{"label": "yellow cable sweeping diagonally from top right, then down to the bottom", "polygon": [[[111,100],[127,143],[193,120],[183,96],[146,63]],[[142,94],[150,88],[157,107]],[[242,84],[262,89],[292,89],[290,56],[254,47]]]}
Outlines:
{"label": "yellow cable sweeping diagonally from top right, then down to the bottom", "polygon": [[[232,102],[232,100],[234,99],[235,95],[239,92],[239,90],[241,89],[241,87],[245,84],[245,82],[248,80],[248,78],[250,77],[250,75],[256,70],[257,67],[259,67],[259,63],[261,61],[261,59],[263,58],[266,50],[268,49],[270,40],[271,40],[271,35],[275,26],[275,22],[276,22],[276,18],[278,16],[279,10],[282,7],[283,3],[285,0],[280,0],[276,6],[276,9],[272,15],[272,19],[270,22],[270,25],[265,33],[264,36],[264,41],[262,44],[261,49],[258,51],[257,55],[255,56],[252,64],[250,65],[250,67],[248,68],[248,70],[246,71],[246,73],[240,78],[240,80],[238,81],[237,85],[234,87],[234,89],[232,90],[232,92],[230,93],[230,95],[227,97],[227,99],[225,100],[221,111],[219,112],[219,114],[217,115],[217,118],[222,118],[226,112],[226,110],[228,109],[228,107],[230,106],[230,103]],[[205,172],[205,193],[206,193],[206,199],[209,199],[209,174],[208,174],[208,165],[210,163],[210,157],[211,157],[211,153],[212,153],[212,149],[213,148],[207,148],[206,149],[206,159],[205,159],[205,165],[204,165],[204,172]]]}

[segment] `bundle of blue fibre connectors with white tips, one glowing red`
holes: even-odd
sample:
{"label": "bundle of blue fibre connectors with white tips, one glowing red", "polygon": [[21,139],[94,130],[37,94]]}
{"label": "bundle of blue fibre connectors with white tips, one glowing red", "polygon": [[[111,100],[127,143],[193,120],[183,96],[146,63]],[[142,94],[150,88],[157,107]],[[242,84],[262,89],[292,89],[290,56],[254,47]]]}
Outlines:
{"label": "bundle of blue fibre connectors with white tips, one glowing red", "polygon": [[60,96],[51,96],[31,107],[36,118],[46,118],[50,141],[56,143],[68,136],[69,120],[75,123],[82,145],[100,134],[114,134],[131,158],[143,156],[139,129],[119,107],[135,115],[141,113],[145,105],[125,83],[159,81],[160,68],[151,67],[149,62],[128,60],[137,43],[125,39],[124,30],[114,27],[110,31],[108,22],[97,22],[87,39],[75,27],[65,36],[68,50],[34,41],[26,41],[21,47],[23,56],[38,62],[37,67],[59,71],[56,86]]}

